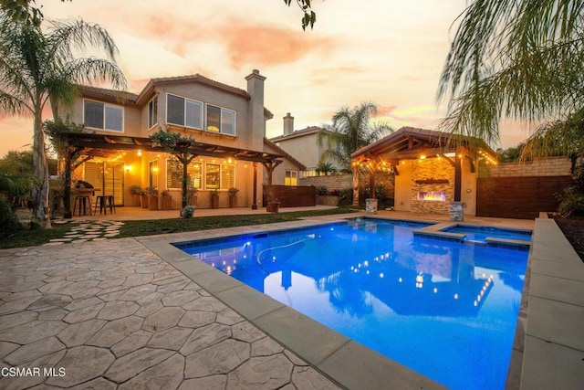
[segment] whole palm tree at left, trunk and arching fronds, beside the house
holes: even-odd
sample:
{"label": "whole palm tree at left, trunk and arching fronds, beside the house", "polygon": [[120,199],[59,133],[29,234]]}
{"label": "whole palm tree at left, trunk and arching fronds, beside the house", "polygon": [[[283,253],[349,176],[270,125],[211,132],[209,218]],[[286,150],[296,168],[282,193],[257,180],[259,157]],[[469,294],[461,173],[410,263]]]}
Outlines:
{"label": "whole palm tree at left, trunk and arching fronds, beside the house", "polygon": [[[0,111],[32,117],[33,157],[39,184],[33,189],[33,217],[50,227],[48,170],[42,111],[50,100],[53,116],[71,104],[77,84],[110,81],[125,87],[121,70],[112,62],[118,49],[106,30],[82,20],[40,26],[18,22],[0,13]],[[76,58],[87,48],[103,49],[109,59]]]}

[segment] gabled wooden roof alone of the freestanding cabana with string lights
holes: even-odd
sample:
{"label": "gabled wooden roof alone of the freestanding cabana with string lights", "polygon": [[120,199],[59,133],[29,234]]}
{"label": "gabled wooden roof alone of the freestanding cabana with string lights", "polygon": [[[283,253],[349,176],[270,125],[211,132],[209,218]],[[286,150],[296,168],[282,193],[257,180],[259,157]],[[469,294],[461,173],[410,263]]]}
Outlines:
{"label": "gabled wooden roof alone of the freestanding cabana with string lights", "polygon": [[453,153],[460,147],[468,153],[482,153],[495,158],[495,151],[482,140],[463,137],[460,141],[449,142],[450,139],[451,134],[447,132],[402,127],[397,132],[392,132],[352,153],[351,158],[360,161],[383,154],[388,160],[415,159],[419,158],[420,153],[428,155]]}

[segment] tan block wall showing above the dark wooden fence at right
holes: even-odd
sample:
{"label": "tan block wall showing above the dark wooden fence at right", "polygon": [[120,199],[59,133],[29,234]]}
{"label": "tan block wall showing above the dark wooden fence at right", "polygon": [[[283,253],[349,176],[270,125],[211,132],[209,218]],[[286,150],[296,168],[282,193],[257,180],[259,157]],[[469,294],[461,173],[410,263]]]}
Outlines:
{"label": "tan block wall showing above the dark wooden fence at right", "polygon": [[530,163],[481,165],[479,177],[567,176],[570,167],[568,157],[547,157]]}

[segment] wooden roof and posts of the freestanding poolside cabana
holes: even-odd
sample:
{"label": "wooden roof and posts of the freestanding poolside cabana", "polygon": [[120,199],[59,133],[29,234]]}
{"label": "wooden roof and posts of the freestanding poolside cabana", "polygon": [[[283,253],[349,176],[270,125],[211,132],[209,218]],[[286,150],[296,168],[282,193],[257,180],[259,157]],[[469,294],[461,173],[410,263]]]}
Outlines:
{"label": "wooden roof and posts of the freestanding poolside cabana", "polygon": [[474,162],[480,157],[495,163],[496,153],[486,142],[473,137],[458,137],[447,132],[402,127],[377,142],[351,154],[353,167],[353,204],[359,205],[359,172],[368,171],[370,188],[375,187],[375,172],[391,169],[399,175],[401,160],[415,160],[440,156],[454,166],[454,201],[461,199],[462,163],[469,163],[475,172]]}

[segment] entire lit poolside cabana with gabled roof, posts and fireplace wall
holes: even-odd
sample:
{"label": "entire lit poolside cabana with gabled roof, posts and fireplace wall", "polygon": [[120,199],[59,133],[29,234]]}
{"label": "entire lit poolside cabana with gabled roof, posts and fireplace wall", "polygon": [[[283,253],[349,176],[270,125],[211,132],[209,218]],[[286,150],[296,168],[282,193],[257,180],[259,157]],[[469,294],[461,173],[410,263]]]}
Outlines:
{"label": "entire lit poolside cabana with gabled roof, posts and fireplace wall", "polygon": [[396,211],[448,215],[455,206],[469,216],[476,210],[479,163],[496,163],[496,153],[482,140],[412,127],[392,132],[351,158],[356,205],[358,174],[368,172],[369,187],[375,188],[375,173],[389,171],[395,174]]}

